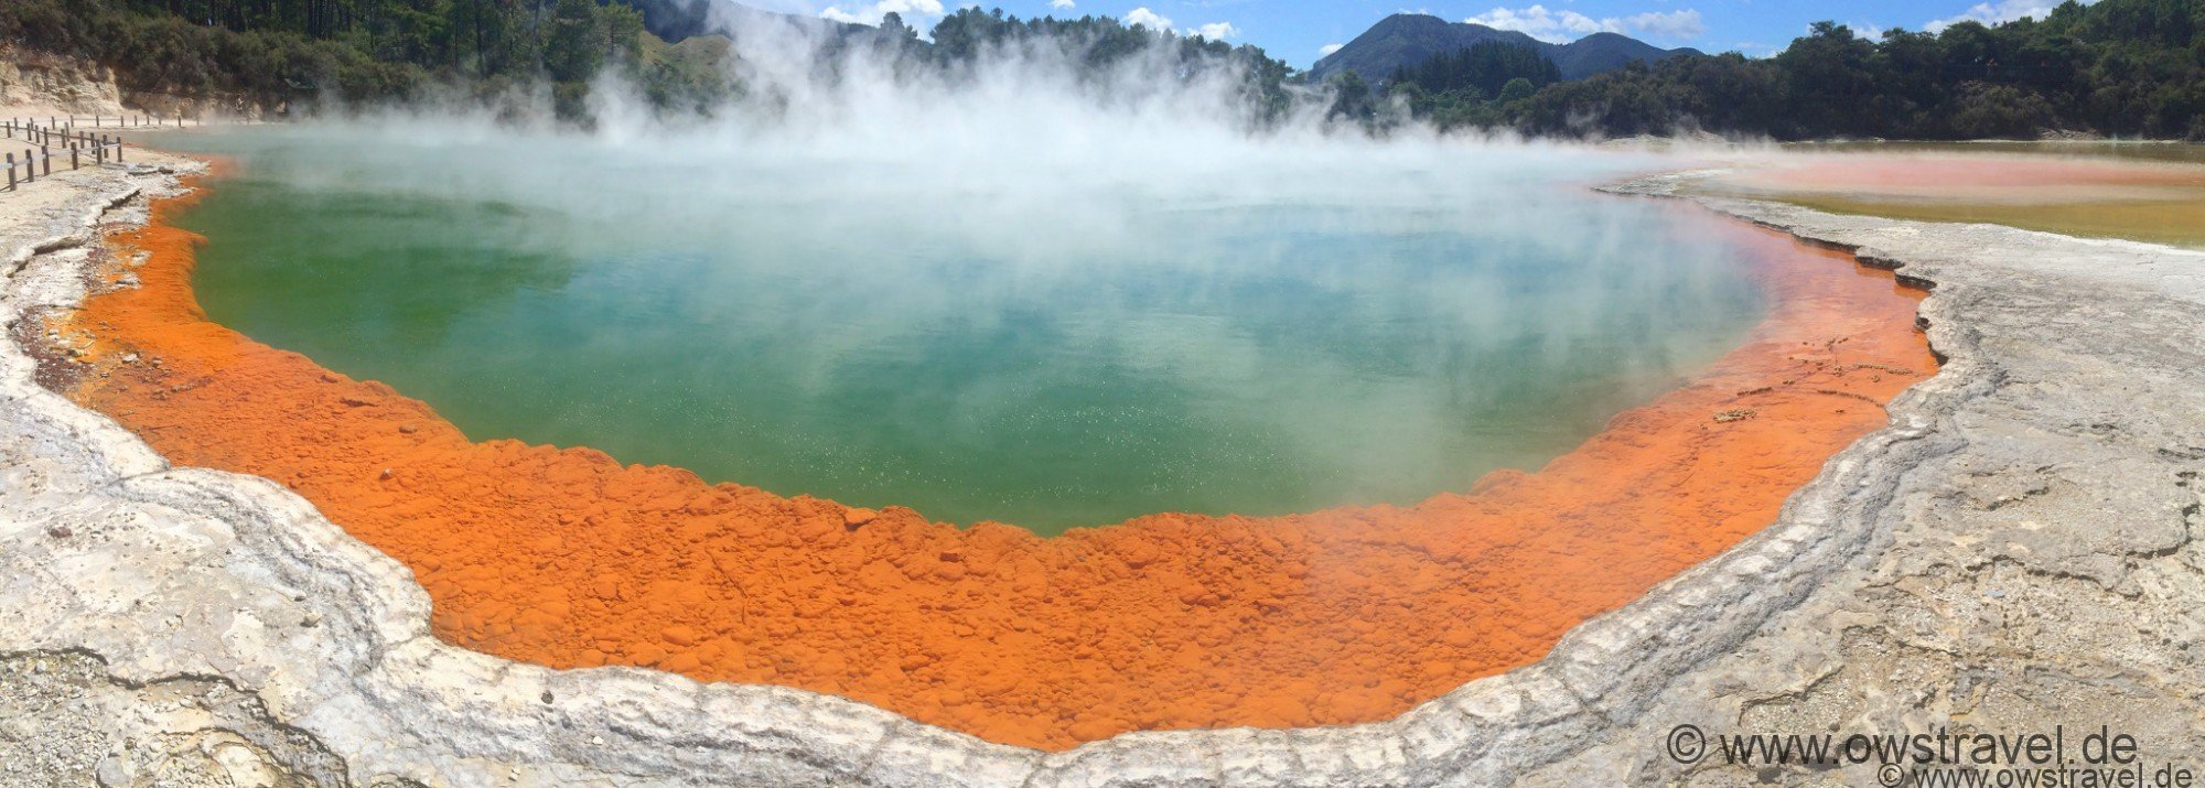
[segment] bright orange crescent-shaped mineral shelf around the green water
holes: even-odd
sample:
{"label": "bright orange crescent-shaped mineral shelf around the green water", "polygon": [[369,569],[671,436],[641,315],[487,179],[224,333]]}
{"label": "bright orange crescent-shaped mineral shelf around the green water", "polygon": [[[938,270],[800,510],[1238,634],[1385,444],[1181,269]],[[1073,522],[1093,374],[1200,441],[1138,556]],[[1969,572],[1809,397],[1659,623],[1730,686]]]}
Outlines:
{"label": "bright orange crescent-shaped mineral shelf around the green water", "polygon": [[[194,191],[201,194],[201,191]],[[990,742],[1396,718],[1764,528],[1936,368],[1918,293],[1704,216],[1771,291],[1751,341],[1537,473],[1418,506],[1149,515],[1039,539],[851,511],[591,449],[470,442],[428,405],[207,321],[196,236],[115,238],[135,286],[57,319],[71,398],[176,464],[282,482],[415,570],[434,632],[864,700]],[[1682,209],[1682,207],[1680,207]],[[1466,480],[1469,482],[1469,480]]]}

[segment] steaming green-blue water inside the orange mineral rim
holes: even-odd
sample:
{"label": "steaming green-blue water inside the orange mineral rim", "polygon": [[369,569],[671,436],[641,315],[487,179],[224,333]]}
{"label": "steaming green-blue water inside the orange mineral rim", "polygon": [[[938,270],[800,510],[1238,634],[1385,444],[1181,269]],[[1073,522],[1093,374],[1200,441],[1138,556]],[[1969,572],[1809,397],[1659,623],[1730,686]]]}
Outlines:
{"label": "steaming green-blue water inside the orange mineral rim", "polygon": [[[1746,251],[1557,150],[1211,169],[185,134],[209,317],[476,440],[1039,533],[1416,502],[1738,346]],[[1314,145],[1314,143],[1310,143]],[[1186,172],[1193,169],[1193,172]]]}

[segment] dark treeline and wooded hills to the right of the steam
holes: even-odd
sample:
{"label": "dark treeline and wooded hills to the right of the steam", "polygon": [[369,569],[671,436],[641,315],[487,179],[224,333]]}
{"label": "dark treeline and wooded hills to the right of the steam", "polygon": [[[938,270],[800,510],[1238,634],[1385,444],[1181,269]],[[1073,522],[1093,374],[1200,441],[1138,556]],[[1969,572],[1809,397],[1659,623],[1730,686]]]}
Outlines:
{"label": "dark treeline and wooded hills to the right of the steam", "polygon": [[[1537,92],[1458,88],[1458,62],[1387,90],[1440,125],[1541,136],[1707,130],[1773,139],[2035,139],[2042,132],[2205,139],[2205,2],[2066,2],[2044,20],[1960,22],[1872,42],[1819,22],[1768,59],[1671,57]],[[1499,62],[1493,53],[1477,62]],[[1493,66],[1486,66],[1493,70]],[[1491,77],[1486,77],[1491,79]],[[1453,92],[1453,99],[1435,99]]]}

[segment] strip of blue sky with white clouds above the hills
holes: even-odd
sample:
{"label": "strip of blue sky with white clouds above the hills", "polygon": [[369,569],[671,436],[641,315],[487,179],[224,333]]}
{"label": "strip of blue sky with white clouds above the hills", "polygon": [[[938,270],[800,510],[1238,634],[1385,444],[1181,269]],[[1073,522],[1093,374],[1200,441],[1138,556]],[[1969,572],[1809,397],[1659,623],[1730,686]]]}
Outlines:
{"label": "strip of blue sky with white clouds above the hills", "polygon": [[[818,13],[849,22],[878,22],[897,11],[917,29],[931,29],[944,9],[964,0],[739,0],[756,7]],[[1519,29],[1544,40],[1577,40],[1616,31],[1660,46],[1742,51],[1773,55],[1810,22],[1837,20],[1857,31],[1890,26],[1929,29],[1951,20],[2002,22],[2044,15],[2057,0],[999,0],[1021,18],[1085,13],[1116,15],[1175,31],[1222,33],[1235,44],[1255,44],[1297,68],[1316,62],[1327,44],[1343,44],[1387,13],[1431,13],[1449,22],[1482,22]],[[2095,0],[2093,0],[2095,2]]]}

